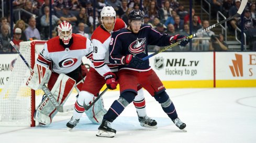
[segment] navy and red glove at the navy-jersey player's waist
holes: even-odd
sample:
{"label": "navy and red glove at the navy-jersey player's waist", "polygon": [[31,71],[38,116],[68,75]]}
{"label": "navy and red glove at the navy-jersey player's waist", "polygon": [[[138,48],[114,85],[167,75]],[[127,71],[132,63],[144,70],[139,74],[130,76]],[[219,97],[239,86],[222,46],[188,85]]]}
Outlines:
{"label": "navy and red glove at the navy-jersey player's waist", "polygon": [[129,64],[131,67],[138,68],[143,64],[143,60],[138,57],[133,57],[131,54],[129,54],[125,56],[123,63]]}

